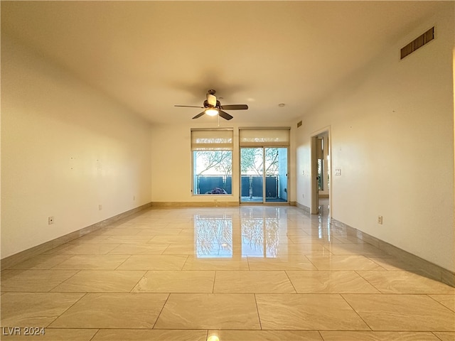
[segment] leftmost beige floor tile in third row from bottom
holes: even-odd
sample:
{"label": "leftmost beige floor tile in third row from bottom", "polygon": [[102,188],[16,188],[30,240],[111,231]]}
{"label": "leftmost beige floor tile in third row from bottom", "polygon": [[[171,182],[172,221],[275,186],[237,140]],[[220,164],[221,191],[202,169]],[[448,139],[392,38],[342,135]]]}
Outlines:
{"label": "leftmost beige floor tile in third row from bottom", "polygon": [[76,273],[75,270],[13,270],[2,275],[1,291],[46,292]]}

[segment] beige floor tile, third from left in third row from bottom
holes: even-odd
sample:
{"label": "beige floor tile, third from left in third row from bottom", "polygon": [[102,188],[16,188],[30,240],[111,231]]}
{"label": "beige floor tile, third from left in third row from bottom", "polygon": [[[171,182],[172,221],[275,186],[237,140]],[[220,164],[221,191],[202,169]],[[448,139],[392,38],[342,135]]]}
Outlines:
{"label": "beige floor tile, third from left in third row from bottom", "polygon": [[134,293],[212,293],[215,271],[147,271]]}

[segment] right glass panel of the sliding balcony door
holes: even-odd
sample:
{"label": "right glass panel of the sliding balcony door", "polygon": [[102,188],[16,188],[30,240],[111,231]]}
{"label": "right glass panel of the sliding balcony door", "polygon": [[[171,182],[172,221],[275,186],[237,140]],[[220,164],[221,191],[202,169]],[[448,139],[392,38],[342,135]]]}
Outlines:
{"label": "right glass panel of the sliding balcony door", "polygon": [[287,148],[264,148],[265,201],[287,202]]}

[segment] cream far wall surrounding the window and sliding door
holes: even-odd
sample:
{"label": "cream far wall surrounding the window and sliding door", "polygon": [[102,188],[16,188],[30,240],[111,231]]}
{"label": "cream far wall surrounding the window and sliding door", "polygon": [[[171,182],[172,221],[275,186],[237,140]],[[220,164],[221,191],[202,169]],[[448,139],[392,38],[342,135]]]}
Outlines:
{"label": "cream far wall surrounding the window and sliding door", "polygon": [[[238,125],[232,121],[221,121],[220,128],[230,127],[234,130],[234,149],[232,151],[232,195],[204,196],[193,195],[191,186],[191,129],[192,128],[218,128],[216,118],[211,123],[199,119],[190,124],[159,125],[152,127],[152,202],[239,202],[239,148]],[[209,121],[210,122],[210,121]],[[242,127],[245,125],[242,125]],[[270,126],[290,126],[289,122],[277,122]],[[293,141],[291,128],[291,141]],[[295,201],[294,177],[294,144],[290,146],[289,161],[289,201]]]}

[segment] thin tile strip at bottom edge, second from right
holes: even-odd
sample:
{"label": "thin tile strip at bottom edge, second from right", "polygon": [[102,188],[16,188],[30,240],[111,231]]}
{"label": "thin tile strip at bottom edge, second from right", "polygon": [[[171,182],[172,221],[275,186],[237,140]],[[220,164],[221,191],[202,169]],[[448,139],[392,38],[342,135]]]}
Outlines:
{"label": "thin tile strip at bottom edge, second from right", "polygon": [[439,341],[432,332],[325,332],[324,341]]}

